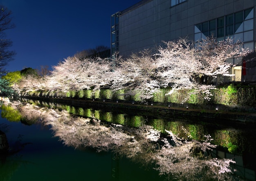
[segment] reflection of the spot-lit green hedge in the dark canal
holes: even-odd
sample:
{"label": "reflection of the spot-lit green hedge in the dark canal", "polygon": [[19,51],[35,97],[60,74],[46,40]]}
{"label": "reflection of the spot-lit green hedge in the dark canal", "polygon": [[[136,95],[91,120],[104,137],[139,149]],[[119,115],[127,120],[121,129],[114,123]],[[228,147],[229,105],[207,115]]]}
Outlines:
{"label": "reflection of the spot-lit green hedge in the dark canal", "polygon": [[223,125],[223,122],[218,120],[195,120],[191,122],[190,118],[168,117],[168,119],[166,119],[166,117],[161,118],[159,116],[152,116],[152,114],[150,115],[148,112],[136,111],[136,114],[132,114],[131,111],[126,109],[115,112],[115,109],[95,110],[93,108],[74,107],[31,99],[23,99],[22,101],[49,108],[67,110],[68,113],[73,115],[94,117],[101,121],[121,124],[124,126],[139,127],[147,124],[161,132],[164,132],[164,130],[171,130],[175,135],[184,138],[189,137],[189,139],[202,140],[204,139],[204,135],[211,135],[213,138],[213,144],[222,147],[222,150],[232,154],[255,154],[256,150],[256,142],[254,141],[254,132],[256,129],[254,125],[242,128],[243,124],[236,126],[236,123],[229,122],[229,124],[225,126]]}

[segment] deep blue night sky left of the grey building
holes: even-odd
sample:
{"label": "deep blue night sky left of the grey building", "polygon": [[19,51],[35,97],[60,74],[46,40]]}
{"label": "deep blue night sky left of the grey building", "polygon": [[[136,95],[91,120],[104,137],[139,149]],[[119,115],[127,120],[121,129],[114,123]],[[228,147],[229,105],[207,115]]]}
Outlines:
{"label": "deep blue night sky left of the grey building", "polygon": [[16,28],[6,32],[17,55],[7,71],[51,68],[78,51],[110,47],[110,17],[141,0],[0,0]]}

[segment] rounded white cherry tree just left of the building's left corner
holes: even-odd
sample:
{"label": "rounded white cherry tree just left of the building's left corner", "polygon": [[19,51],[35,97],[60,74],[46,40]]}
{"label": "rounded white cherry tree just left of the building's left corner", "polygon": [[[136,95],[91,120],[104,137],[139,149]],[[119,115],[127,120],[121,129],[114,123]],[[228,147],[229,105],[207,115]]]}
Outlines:
{"label": "rounded white cherry tree just left of the building's left corner", "polygon": [[111,62],[107,59],[67,57],[65,61],[53,66],[52,75],[48,77],[50,90],[99,89],[108,84],[107,74],[111,72]]}

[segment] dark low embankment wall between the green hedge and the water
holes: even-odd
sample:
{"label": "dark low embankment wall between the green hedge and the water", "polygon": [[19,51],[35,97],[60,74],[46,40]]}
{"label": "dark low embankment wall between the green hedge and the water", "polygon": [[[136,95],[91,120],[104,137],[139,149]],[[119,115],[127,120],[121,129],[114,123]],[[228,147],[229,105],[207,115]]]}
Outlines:
{"label": "dark low embankment wall between the green hedge and the water", "polygon": [[[184,104],[144,104],[140,102],[125,102],[124,100],[112,101],[110,99],[79,99],[70,97],[58,97],[56,96],[42,96],[42,95],[20,95],[23,99],[36,99],[45,102],[56,102],[61,104],[67,104],[71,106],[92,106],[96,108],[110,107],[113,109],[126,109],[130,111],[145,111],[148,115],[161,116],[161,117],[191,117],[198,119],[209,120],[232,120],[254,123],[256,121],[256,114],[244,113],[244,112],[230,112],[222,110],[221,108],[203,109],[199,106],[194,108],[193,106],[184,106]],[[215,105],[216,106],[216,105]]]}

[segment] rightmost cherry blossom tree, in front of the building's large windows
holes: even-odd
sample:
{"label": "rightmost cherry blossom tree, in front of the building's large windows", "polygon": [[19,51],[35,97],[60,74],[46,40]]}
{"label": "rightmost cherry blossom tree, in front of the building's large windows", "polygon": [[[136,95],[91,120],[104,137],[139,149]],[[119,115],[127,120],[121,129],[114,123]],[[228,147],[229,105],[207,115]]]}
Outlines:
{"label": "rightmost cherry blossom tree, in front of the building's large windows", "polygon": [[[210,84],[216,75],[230,75],[232,64],[226,62],[230,58],[245,57],[249,49],[241,48],[241,42],[234,42],[233,38],[217,41],[215,37],[207,37],[196,44],[197,59],[201,62],[200,71],[197,73],[200,83]],[[235,66],[235,65],[234,65]]]}

